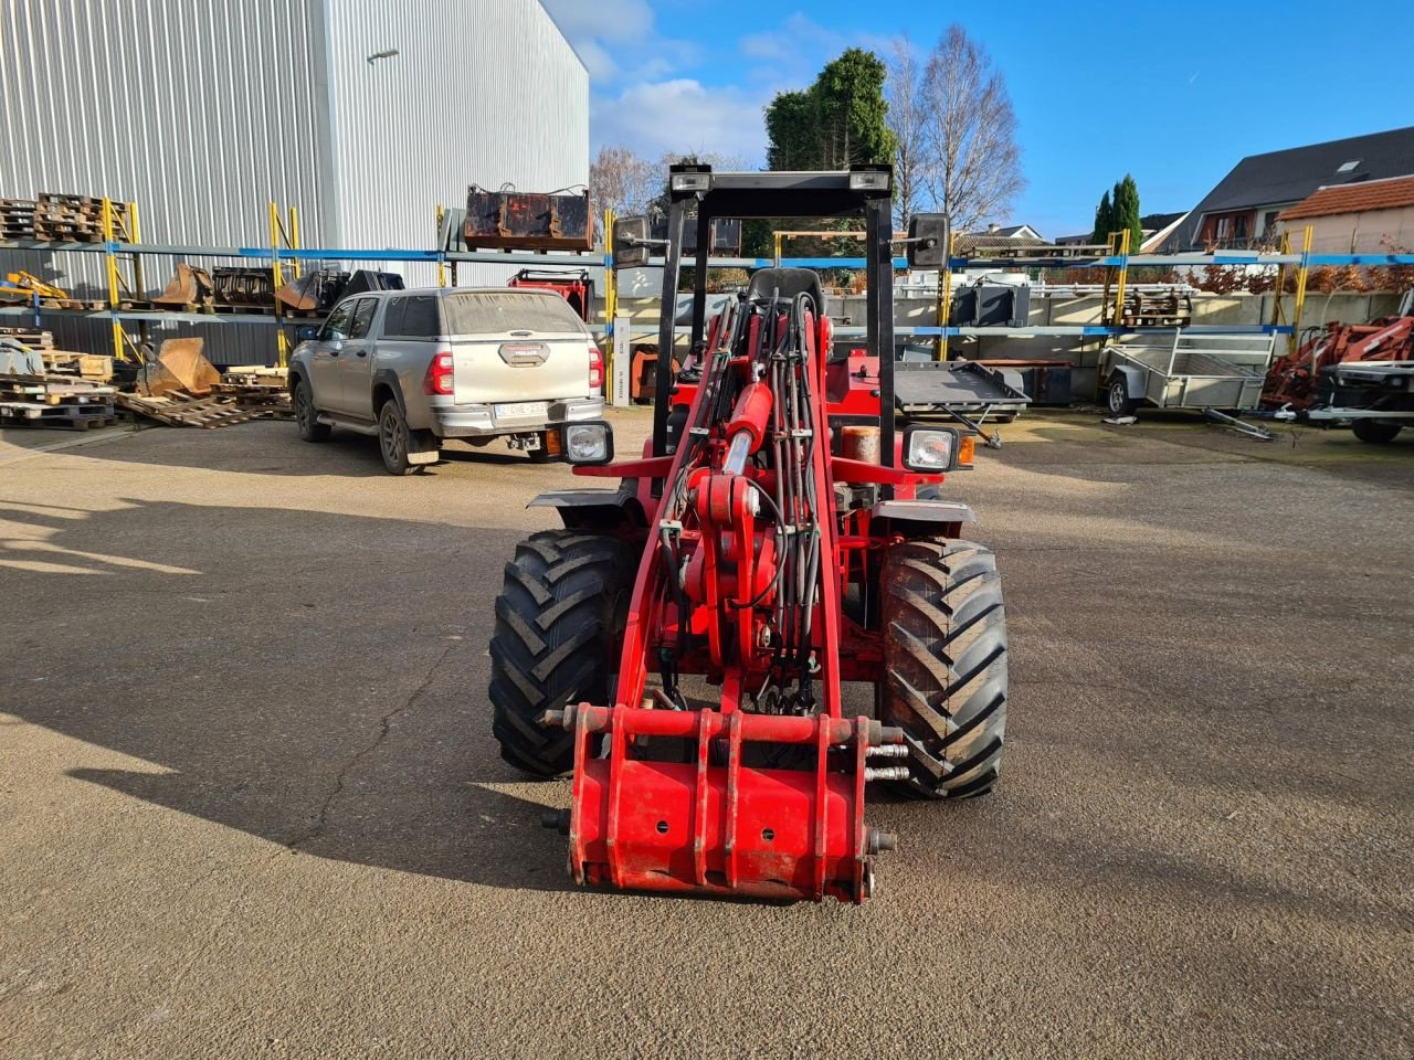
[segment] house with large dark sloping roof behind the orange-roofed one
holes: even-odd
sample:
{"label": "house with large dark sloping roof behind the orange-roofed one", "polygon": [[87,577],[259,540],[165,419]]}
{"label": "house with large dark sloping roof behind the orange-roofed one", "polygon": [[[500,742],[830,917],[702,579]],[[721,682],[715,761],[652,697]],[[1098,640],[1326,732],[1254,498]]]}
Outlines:
{"label": "house with large dark sloping roof behind the orange-roofed one", "polygon": [[1275,239],[1282,211],[1319,188],[1414,174],[1414,127],[1243,158],[1203,196],[1165,249],[1251,247]]}

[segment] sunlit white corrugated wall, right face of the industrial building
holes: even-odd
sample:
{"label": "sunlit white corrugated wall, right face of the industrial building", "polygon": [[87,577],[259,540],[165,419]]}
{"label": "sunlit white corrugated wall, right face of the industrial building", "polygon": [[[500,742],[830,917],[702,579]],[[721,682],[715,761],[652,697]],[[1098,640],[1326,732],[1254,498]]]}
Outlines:
{"label": "sunlit white corrugated wall, right face of the industrial building", "polygon": [[[534,0],[327,0],[327,10],[345,246],[433,246],[434,206],[465,205],[468,184],[588,181],[588,73]],[[458,278],[499,284],[512,271],[461,266]],[[409,276],[434,283],[427,267]]]}

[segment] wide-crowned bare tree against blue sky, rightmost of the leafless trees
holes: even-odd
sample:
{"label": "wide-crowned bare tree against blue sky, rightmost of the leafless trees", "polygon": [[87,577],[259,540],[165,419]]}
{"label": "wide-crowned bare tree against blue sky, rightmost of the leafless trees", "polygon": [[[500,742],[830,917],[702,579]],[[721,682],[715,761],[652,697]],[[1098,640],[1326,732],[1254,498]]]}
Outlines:
{"label": "wide-crowned bare tree against blue sky, rightmost of the leafless trees", "polygon": [[928,57],[921,98],[929,196],[949,230],[966,232],[1027,187],[1005,78],[954,23]]}

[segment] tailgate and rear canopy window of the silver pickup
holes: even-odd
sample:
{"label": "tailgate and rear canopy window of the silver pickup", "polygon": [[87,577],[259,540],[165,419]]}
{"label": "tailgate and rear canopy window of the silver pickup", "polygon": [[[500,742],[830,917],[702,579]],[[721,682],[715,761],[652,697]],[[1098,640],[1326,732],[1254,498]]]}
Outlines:
{"label": "tailgate and rear canopy window of the silver pickup", "polygon": [[[448,295],[443,298],[443,332],[452,351],[458,404],[530,406],[592,396],[590,348],[594,339],[559,294],[468,291]],[[534,417],[543,410],[527,407],[525,414]]]}

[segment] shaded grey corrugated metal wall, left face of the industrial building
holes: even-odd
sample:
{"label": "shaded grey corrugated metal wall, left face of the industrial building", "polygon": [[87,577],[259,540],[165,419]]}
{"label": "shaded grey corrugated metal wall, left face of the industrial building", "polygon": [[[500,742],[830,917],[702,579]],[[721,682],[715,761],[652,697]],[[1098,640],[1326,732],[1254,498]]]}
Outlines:
{"label": "shaded grey corrugated metal wall, left face of the industrial building", "polygon": [[[269,243],[266,204],[298,206],[310,237],[329,230],[332,172],[322,106],[321,0],[180,4],[0,0],[0,195],[136,201],[143,240]],[[17,261],[81,297],[107,284],[95,254]],[[174,259],[148,257],[160,287]],[[211,264],[211,261],[202,261]],[[45,322],[65,345],[106,348],[109,328]],[[273,329],[202,328],[223,362],[262,359]]]}

